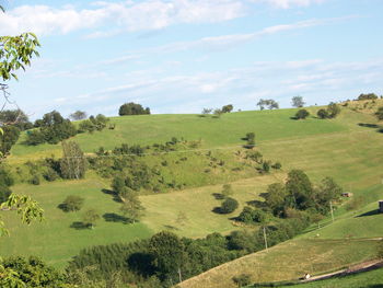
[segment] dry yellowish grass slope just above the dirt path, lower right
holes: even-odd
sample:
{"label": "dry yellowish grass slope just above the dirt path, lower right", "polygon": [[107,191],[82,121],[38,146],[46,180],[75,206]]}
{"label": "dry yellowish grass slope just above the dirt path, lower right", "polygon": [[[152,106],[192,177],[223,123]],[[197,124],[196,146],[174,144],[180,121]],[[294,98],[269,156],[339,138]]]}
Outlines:
{"label": "dry yellowish grass slope just above the dirt path, lower right", "polygon": [[179,285],[181,288],[234,288],[241,274],[253,283],[292,280],[359,263],[375,253],[376,241],[293,240],[268,251],[244,256],[212,268]]}

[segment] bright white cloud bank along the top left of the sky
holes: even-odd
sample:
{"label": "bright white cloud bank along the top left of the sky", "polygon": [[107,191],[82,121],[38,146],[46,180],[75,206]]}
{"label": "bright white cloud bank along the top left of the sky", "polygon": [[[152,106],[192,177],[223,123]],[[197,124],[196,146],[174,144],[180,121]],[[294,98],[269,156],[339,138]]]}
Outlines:
{"label": "bright white cloud bank along the top left of the sky", "polygon": [[[22,5],[1,14],[0,34],[33,31],[38,35],[68,34],[84,28],[101,28],[88,37],[109,36],[119,30],[159,30],[179,23],[213,23],[244,15],[240,0],[146,0],[98,1],[90,9],[73,5]],[[106,32],[105,26],[116,26]]]}

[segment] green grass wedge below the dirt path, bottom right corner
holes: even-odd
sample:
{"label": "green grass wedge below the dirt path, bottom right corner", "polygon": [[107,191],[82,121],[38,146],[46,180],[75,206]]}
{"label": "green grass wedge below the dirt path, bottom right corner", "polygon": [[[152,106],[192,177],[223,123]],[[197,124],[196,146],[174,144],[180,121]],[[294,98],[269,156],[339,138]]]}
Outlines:
{"label": "green grass wedge below the dirt path, bottom right corner", "polygon": [[[258,286],[256,286],[258,287]],[[260,286],[262,287],[262,286]],[[314,281],[309,284],[277,286],[280,288],[381,288],[383,287],[383,268],[336,277],[327,280]],[[252,288],[249,286],[248,288]]]}

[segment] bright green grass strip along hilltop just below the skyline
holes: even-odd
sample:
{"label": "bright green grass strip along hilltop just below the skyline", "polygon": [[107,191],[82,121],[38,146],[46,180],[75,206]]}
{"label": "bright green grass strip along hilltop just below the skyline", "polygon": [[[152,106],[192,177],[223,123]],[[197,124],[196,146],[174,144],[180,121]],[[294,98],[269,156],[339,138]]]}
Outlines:
{"label": "bright green grass strip along hilltop just below the skyline", "polygon": [[[294,110],[276,112],[241,112],[224,114],[221,118],[198,117],[198,115],[139,115],[112,117],[116,124],[114,130],[104,129],[101,133],[81,134],[73,139],[84,152],[94,152],[101,146],[113,149],[120,143],[152,145],[165,142],[172,137],[184,137],[187,140],[201,139],[205,148],[241,146],[246,133],[254,131],[259,140],[271,140],[307,135],[318,135],[347,130],[344,125],[333,120],[310,118],[304,122],[292,120]],[[25,146],[22,135],[18,145],[12,148],[10,160],[16,161],[25,155],[39,158],[42,155],[60,154],[60,145]]]}

